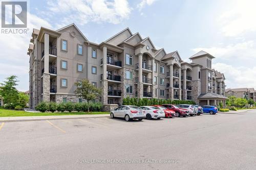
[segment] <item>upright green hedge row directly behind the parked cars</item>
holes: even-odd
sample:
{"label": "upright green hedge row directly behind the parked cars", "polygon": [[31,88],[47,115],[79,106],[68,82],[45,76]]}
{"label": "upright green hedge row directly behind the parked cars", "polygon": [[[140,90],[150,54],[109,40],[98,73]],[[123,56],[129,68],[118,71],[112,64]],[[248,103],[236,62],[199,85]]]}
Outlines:
{"label": "upright green hedge row directly behind the parked cars", "polygon": [[162,105],[162,104],[189,104],[195,105],[194,101],[182,101],[182,100],[170,100],[170,99],[137,99],[137,98],[124,98],[123,105],[134,105],[134,106],[150,106],[150,105]]}

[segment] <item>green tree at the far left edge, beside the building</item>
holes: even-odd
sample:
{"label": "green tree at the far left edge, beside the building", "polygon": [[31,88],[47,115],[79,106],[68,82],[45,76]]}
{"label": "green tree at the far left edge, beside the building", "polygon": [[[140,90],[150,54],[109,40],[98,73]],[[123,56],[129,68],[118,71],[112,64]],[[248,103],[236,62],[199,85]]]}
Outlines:
{"label": "green tree at the far left edge, beside the building", "polygon": [[6,78],[7,81],[0,83],[0,95],[4,99],[4,103],[14,108],[18,105],[18,90],[15,88],[17,86],[17,76],[10,76]]}

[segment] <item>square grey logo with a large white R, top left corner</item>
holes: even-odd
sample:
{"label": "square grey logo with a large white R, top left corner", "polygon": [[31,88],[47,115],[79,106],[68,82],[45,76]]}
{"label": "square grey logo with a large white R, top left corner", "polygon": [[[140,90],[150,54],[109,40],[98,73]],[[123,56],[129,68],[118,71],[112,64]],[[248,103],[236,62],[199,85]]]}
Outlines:
{"label": "square grey logo with a large white R, top left corner", "polygon": [[27,27],[27,2],[2,2],[2,28]]}

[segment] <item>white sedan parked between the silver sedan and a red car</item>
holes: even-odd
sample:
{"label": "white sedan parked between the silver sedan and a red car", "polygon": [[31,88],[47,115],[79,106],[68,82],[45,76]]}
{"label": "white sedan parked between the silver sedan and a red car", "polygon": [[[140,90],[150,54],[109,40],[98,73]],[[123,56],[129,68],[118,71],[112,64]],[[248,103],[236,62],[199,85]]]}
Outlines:
{"label": "white sedan parked between the silver sedan and a red car", "polygon": [[152,119],[152,118],[160,119],[161,117],[165,117],[164,111],[157,107],[141,106],[140,108],[146,112],[147,119]]}

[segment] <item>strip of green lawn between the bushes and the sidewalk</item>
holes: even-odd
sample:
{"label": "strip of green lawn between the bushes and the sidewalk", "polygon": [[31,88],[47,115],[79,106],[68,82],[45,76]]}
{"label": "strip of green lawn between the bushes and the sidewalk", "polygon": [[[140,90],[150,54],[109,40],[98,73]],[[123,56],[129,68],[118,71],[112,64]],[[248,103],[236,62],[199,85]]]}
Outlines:
{"label": "strip of green lawn between the bushes and the sidewalk", "polygon": [[11,116],[53,116],[53,115],[86,115],[86,114],[109,114],[109,112],[47,112],[47,113],[31,113],[25,111],[7,110],[0,108],[0,117],[11,117]]}

